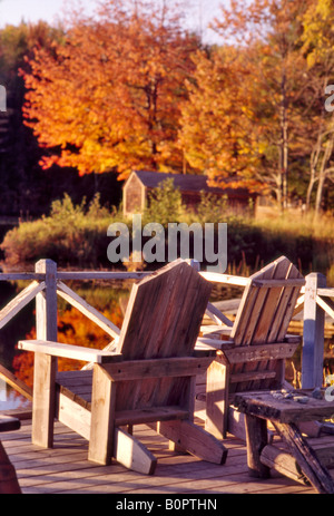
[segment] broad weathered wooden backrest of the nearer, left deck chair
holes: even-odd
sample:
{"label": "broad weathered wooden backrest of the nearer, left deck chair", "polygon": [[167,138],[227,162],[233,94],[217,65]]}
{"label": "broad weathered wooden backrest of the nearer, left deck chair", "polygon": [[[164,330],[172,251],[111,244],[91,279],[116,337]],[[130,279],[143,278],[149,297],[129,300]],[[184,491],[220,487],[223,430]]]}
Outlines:
{"label": "broad weathered wooden backrest of the nearer, left deck chair", "polygon": [[[124,360],[190,357],[212,285],[177,260],[132,286],[117,352]],[[121,382],[116,410],[179,405],[185,378]]]}

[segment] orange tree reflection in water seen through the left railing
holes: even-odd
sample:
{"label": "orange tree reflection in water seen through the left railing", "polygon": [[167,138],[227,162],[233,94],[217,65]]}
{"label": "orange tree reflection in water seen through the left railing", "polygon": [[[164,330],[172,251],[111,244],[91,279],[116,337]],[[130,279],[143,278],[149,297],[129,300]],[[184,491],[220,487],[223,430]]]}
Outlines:
{"label": "orange tree reflection in water seen through the left railing", "polygon": [[[3,282],[1,285],[1,306],[4,306],[18,292],[27,286]],[[89,304],[99,310],[117,327],[122,322],[122,306],[128,299],[129,289],[115,289],[107,284],[94,286],[70,285]],[[18,351],[17,342],[21,339],[35,339],[35,301],[31,301],[2,330],[0,330],[0,363],[10,369],[28,386],[32,386],[33,353]],[[96,323],[58,299],[58,341],[88,348],[102,349],[111,341]],[[59,370],[80,369],[85,362],[59,359]]]}

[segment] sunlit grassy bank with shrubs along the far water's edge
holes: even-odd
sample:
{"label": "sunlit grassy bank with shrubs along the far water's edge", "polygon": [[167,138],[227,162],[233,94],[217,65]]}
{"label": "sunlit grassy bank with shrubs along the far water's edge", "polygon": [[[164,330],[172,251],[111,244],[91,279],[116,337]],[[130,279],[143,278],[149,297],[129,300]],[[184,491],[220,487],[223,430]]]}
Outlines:
{"label": "sunlit grassy bank with shrubs along the far water's edge", "polygon": [[[169,194],[168,201],[165,196],[151,203],[143,216],[143,225],[153,221],[165,226],[168,222],[226,222],[227,272],[249,274],[284,254],[304,274],[323,272],[328,283],[334,284],[333,217],[323,216],[315,221],[312,214],[277,213],[271,217],[252,218],[230,214],[224,202],[217,204],[208,198],[204,198],[197,213],[194,213],[181,206],[177,196]],[[131,235],[132,221],[125,220],[116,208],[110,213],[101,207],[98,196],[88,206],[85,203],[76,206],[66,195],[62,201],[52,204],[49,216],[22,222],[6,234],[1,244],[3,266],[7,270],[31,270],[36,261],[49,257],[61,267],[115,269],[116,264],[107,259],[107,247],[111,241],[107,236],[107,228],[114,222],[125,222]],[[151,265],[148,264],[147,269],[153,269]]]}

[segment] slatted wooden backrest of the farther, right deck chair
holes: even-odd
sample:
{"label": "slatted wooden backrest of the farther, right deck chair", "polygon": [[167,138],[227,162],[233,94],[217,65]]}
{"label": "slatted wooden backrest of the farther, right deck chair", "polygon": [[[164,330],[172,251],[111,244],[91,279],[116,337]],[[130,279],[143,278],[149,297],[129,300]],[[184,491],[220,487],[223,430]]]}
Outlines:
{"label": "slatted wooden backrest of the farther, right deck chair", "polygon": [[[303,275],[285,256],[249,278],[230,334],[236,347],[269,345],[284,341],[301,290],[301,284],[293,280],[303,280]],[[233,364],[230,373],[275,371],[277,367],[274,359],[240,362]],[[268,379],[240,381],[232,383],[229,392],[266,389],[276,384],[276,380]]]}

